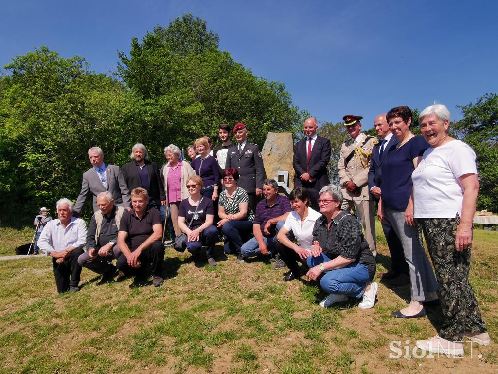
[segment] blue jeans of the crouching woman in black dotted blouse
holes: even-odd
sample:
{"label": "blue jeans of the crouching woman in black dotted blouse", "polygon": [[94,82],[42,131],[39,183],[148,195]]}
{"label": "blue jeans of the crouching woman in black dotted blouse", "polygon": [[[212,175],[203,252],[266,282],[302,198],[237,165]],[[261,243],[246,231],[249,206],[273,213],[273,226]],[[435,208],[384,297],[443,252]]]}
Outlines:
{"label": "blue jeans of the crouching woman in black dotted blouse", "polygon": [[[308,267],[320,265],[330,261],[325,254],[318,257],[310,256],[307,259]],[[349,264],[341,269],[324,272],[320,279],[322,290],[329,294],[347,295],[354,298],[361,298],[370,281],[369,269],[362,264]]]}

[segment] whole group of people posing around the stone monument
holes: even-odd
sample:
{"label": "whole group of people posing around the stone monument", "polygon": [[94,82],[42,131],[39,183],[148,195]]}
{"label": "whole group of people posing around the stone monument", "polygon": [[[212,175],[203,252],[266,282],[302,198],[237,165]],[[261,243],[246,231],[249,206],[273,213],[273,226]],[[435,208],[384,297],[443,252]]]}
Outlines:
{"label": "whole group of people posing around the stone monument", "polygon": [[[120,270],[118,278],[135,275],[135,282],[143,283],[150,273],[145,264],[151,263],[152,284],[162,285],[162,223],[169,217],[173,235],[186,235],[178,250],[188,250],[195,260],[206,247],[208,264],[216,266],[214,249],[223,237],[225,253],[238,262],[270,255],[272,268],[288,268],[284,281],[304,274],[319,281],[329,294],[320,302],[323,307],[351,297],[360,308],[372,308],[378,290],[373,282],[377,201],[392,261],[378,277],[411,289],[408,306],[393,317],[423,317],[426,307],[440,304],[443,327],[418,347],[460,355],[464,336],[490,344],[469,283],[479,189],[475,154],[449,136],[448,109],[425,108],[419,119],[422,137],[417,137],[410,131],[410,108],[392,108],[375,119],[380,142],[361,132],[362,117],[343,120],[350,138],[341,148],[340,186],[331,185],[327,174],[330,140],[318,136],[316,120],[308,118],[306,138],[294,148],[295,188],[289,197],[266,178],[261,152],[248,142],[243,123],[234,127],[236,144],[225,124],[219,127],[222,144],[214,151],[209,138],[197,139],[187,149],[190,163],[182,161],[177,146],[167,146],[168,162],[161,170],[148,161],[142,144],[133,146],[133,161],[121,168],[105,164],[102,150],[91,148],[93,168],[83,174],[76,204],[59,200],[59,219],[46,223],[38,241],[53,257],[58,291],[78,290],[82,266],[102,274],[102,282]],[[87,231],[77,216],[90,195],[95,214]]]}

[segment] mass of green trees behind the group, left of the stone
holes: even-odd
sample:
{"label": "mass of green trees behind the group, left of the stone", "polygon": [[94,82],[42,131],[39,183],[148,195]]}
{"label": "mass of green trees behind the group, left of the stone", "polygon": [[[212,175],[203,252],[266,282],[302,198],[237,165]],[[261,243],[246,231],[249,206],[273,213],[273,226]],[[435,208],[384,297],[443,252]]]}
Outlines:
{"label": "mass of green trees behind the group, left of the stone", "polygon": [[119,57],[120,79],[48,47],[4,67],[0,214],[29,212],[30,220],[39,206],[74,200],[92,146],[103,149],[107,162],[123,165],[140,142],[161,164],[166,145],[216,139],[221,123],[245,122],[249,140],[262,145],[268,132],[295,132],[307,115],[282,83],[253,76],[218,50],[218,35],[192,14],[157,26],[141,42],[133,38],[129,53]]}

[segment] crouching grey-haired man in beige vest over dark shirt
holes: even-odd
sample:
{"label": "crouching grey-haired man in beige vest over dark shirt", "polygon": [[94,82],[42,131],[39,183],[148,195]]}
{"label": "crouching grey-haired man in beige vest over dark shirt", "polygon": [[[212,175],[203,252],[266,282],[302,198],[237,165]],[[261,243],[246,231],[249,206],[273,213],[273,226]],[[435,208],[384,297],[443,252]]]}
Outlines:
{"label": "crouching grey-haired man in beige vest over dark shirt", "polygon": [[125,209],[114,204],[113,194],[109,191],[98,194],[97,206],[99,210],[92,216],[87,230],[87,251],[78,257],[78,263],[81,267],[101,274],[101,283],[106,283],[113,279],[116,272],[112,260],[121,255],[116,244]]}

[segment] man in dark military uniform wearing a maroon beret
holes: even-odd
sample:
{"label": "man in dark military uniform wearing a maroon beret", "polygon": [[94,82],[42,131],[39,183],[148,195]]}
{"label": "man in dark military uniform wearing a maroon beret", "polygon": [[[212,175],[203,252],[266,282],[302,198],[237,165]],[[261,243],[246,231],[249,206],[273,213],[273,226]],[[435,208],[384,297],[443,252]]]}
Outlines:
{"label": "man in dark military uniform wearing a maroon beret", "polygon": [[237,143],[228,150],[227,169],[237,169],[240,176],[238,186],[248,192],[250,208],[255,211],[266,179],[261,151],[257,145],[247,141],[248,130],[243,123],[235,125],[234,135]]}

